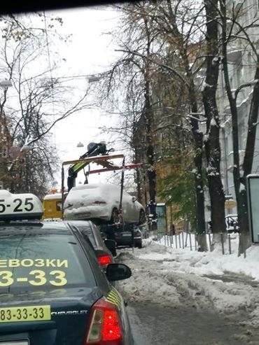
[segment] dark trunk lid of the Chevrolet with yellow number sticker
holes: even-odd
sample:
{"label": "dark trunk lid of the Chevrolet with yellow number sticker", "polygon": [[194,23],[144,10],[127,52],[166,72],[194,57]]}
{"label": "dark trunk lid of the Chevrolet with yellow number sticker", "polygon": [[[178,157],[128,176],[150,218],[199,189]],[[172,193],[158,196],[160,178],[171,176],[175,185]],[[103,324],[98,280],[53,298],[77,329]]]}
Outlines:
{"label": "dark trunk lid of the Chevrolet with yellow number sticker", "polygon": [[90,310],[100,297],[99,288],[41,291],[13,296],[12,300],[1,297],[0,342],[82,345]]}

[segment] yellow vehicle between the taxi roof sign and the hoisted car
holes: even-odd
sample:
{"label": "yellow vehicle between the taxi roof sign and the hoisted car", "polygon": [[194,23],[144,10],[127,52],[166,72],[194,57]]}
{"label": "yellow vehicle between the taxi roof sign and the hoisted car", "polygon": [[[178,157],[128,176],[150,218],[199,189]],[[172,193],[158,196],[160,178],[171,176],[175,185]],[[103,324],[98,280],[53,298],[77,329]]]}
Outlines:
{"label": "yellow vehicle between the taxi roof sign and the hoisted car", "polygon": [[62,193],[50,190],[50,194],[45,195],[43,199],[43,220],[59,219],[62,219]]}

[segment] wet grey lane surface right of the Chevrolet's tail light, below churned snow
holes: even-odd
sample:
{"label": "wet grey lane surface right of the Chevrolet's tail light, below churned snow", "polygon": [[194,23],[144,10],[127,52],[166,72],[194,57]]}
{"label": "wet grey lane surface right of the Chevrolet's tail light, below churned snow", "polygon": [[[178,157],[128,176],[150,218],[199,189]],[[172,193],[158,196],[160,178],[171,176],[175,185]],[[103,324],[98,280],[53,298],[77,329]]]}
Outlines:
{"label": "wet grey lane surface right of the Chevrolet's tail light, below churned snow", "polygon": [[129,314],[136,345],[237,345],[242,331],[211,311],[132,303]]}

